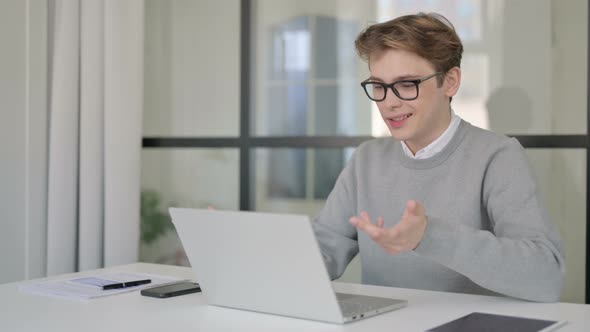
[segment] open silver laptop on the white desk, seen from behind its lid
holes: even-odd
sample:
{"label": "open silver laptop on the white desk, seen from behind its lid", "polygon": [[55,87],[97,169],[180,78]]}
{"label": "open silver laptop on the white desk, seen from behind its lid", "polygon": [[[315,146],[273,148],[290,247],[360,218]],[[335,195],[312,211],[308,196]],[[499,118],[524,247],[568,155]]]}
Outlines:
{"label": "open silver laptop on the white desk, seen from behind its lid", "polygon": [[336,294],[307,216],[170,208],[210,305],[348,323],[407,301]]}

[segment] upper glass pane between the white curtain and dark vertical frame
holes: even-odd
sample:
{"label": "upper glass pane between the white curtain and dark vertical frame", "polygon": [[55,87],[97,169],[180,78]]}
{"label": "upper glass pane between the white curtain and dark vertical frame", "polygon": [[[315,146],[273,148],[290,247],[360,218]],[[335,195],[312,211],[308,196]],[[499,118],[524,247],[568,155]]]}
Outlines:
{"label": "upper glass pane between the white curtain and dark vertical frame", "polygon": [[146,0],[144,136],[238,136],[240,2]]}

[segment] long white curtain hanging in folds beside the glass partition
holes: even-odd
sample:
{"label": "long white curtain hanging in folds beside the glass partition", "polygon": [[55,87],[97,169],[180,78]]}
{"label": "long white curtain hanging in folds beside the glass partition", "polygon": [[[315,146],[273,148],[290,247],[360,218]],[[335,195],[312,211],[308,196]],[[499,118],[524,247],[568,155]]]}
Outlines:
{"label": "long white curtain hanging in folds beside the glass partition", "polygon": [[52,0],[47,274],[137,261],[143,0]]}

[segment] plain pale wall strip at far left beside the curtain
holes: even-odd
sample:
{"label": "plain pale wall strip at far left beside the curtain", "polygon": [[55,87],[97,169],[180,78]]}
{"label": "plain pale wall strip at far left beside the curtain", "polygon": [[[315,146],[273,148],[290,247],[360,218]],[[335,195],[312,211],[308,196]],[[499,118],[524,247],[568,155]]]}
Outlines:
{"label": "plain pale wall strip at far left beside the curtain", "polygon": [[45,274],[47,4],[0,2],[0,283]]}

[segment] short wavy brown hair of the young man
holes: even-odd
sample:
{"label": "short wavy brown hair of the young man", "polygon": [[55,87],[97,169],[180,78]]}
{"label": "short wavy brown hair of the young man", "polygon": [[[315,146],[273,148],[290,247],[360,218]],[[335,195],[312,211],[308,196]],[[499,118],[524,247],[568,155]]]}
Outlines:
{"label": "short wavy brown hair of the young man", "polygon": [[[453,24],[440,14],[418,13],[371,25],[354,44],[361,59],[367,62],[387,49],[397,49],[428,60],[437,72],[461,67],[463,44]],[[442,80],[439,76],[439,84]]]}

